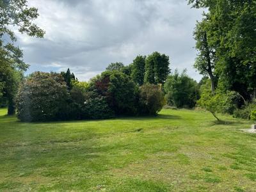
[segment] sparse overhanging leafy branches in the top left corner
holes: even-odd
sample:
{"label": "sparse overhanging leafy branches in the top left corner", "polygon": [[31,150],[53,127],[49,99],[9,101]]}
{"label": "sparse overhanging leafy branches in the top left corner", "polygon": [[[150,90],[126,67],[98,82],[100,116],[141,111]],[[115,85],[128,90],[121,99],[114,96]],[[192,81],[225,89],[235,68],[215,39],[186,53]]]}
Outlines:
{"label": "sparse overhanging leafy branches in the top left corner", "polygon": [[[26,0],[0,1],[0,9],[0,60],[11,61],[12,67],[26,70],[28,65],[22,61],[22,51],[13,44],[16,38],[9,26],[16,26],[20,33],[29,36],[43,37],[44,31],[32,22],[38,17],[38,10],[29,8]],[[11,42],[6,42],[8,38]]]}

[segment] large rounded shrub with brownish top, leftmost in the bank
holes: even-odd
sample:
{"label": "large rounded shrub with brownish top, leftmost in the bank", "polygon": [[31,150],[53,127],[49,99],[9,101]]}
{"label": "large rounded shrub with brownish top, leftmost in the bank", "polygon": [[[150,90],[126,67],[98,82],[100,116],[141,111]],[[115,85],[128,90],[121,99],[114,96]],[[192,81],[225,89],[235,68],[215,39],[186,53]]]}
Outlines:
{"label": "large rounded shrub with brownish top, leftmost in the bank", "polygon": [[35,72],[19,88],[17,116],[26,122],[63,120],[69,116],[70,102],[60,74]]}

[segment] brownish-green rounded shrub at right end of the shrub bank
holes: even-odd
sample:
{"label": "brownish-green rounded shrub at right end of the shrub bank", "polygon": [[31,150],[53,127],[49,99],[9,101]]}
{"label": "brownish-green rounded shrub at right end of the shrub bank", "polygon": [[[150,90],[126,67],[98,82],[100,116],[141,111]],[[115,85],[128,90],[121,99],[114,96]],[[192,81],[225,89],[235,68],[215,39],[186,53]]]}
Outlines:
{"label": "brownish-green rounded shrub at right end of the shrub bank", "polygon": [[140,87],[140,113],[156,115],[164,106],[164,93],[157,84],[144,84]]}

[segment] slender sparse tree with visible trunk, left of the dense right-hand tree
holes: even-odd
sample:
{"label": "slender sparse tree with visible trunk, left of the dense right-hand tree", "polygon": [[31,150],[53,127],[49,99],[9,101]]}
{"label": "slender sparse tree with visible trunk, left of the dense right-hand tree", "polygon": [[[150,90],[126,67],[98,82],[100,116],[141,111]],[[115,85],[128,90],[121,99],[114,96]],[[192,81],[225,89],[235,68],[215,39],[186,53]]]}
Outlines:
{"label": "slender sparse tree with visible trunk, left of the dense right-hand tree", "polygon": [[216,77],[214,76],[216,56],[214,48],[210,47],[207,40],[207,19],[202,20],[202,22],[197,22],[194,38],[196,40],[196,49],[199,51],[194,67],[200,74],[210,77],[211,90],[212,93],[214,93],[216,87]]}

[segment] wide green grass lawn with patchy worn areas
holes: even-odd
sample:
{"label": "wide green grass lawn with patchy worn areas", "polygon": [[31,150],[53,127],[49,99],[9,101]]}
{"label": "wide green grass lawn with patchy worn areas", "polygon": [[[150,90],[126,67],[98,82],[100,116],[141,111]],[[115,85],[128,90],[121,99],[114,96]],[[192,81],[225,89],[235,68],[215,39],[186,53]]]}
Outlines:
{"label": "wide green grass lawn with patchy worn areas", "polygon": [[0,109],[0,191],[256,191],[252,122],[203,111],[21,123]]}

